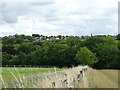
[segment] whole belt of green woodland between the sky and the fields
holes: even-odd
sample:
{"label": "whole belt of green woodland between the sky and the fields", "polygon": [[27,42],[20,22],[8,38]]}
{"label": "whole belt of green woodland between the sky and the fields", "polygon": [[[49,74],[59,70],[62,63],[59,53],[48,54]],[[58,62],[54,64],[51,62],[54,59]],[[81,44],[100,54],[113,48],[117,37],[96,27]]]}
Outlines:
{"label": "whole belt of green woodland between the sky and the fields", "polygon": [[43,36],[33,34],[2,37],[2,65],[120,68],[120,34],[117,36]]}

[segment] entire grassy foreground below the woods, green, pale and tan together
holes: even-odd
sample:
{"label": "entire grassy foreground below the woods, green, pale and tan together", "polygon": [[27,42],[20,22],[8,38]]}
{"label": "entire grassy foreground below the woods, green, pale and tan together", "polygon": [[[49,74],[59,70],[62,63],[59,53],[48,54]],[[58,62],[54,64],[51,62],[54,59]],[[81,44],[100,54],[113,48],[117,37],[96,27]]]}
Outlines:
{"label": "entire grassy foreground below the woods, green, pale and tan together", "polygon": [[4,67],[2,82],[4,87],[15,88],[118,88],[118,70],[88,68],[79,82],[77,77],[82,68]]}

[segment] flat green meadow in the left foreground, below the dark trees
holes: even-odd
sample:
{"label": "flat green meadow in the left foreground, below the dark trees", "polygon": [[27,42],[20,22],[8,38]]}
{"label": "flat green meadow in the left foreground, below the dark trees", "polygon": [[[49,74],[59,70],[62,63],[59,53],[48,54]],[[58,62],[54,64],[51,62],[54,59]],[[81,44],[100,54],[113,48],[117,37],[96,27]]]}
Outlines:
{"label": "flat green meadow in the left foreground, below the dark trees", "polygon": [[2,80],[3,87],[8,88],[12,84],[12,81],[23,79],[30,75],[37,75],[43,73],[51,73],[61,71],[59,68],[36,68],[36,67],[2,67],[2,74],[0,80]]}

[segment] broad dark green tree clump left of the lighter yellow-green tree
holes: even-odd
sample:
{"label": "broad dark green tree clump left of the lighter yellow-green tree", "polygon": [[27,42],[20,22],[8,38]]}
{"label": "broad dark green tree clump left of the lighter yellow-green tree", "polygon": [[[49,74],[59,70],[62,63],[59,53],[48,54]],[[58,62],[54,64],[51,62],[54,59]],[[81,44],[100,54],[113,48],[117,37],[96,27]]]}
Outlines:
{"label": "broad dark green tree clump left of the lighter yellow-green tree", "polygon": [[34,64],[49,66],[71,66],[74,63],[74,51],[66,44],[47,43],[31,53]]}

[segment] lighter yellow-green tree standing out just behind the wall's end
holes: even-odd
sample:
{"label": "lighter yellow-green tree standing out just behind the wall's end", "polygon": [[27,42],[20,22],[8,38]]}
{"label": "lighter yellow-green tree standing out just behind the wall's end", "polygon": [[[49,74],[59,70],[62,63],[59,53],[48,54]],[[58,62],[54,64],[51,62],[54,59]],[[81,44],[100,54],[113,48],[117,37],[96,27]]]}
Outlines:
{"label": "lighter yellow-green tree standing out just behind the wall's end", "polygon": [[92,53],[87,47],[82,47],[80,51],[77,52],[75,58],[80,64],[92,66],[97,62],[97,58],[94,53]]}

